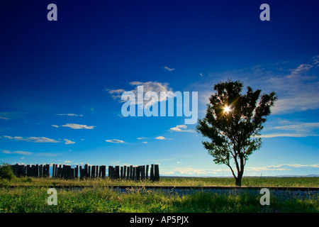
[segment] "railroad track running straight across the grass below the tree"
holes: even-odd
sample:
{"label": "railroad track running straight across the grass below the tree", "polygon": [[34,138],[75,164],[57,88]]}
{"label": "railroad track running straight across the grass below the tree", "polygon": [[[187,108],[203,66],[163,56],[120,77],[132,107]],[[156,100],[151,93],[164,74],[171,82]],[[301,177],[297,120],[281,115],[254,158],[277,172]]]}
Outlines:
{"label": "railroad track running straight across the grass below the tree", "polygon": [[211,189],[225,189],[225,190],[260,190],[262,188],[267,188],[269,190],[275,191],[319,191],[319,187],[231,187],[231,186],[142,186],[142,185],[17,185],[17,186],[2,186],[2,188],[21,188],[21,187],[38,187],[38,188],[55,188],[55,189],[84,189],[84,188],[94,188],[103,187],[110,189],[181,189],[181,190],[211,190]]}

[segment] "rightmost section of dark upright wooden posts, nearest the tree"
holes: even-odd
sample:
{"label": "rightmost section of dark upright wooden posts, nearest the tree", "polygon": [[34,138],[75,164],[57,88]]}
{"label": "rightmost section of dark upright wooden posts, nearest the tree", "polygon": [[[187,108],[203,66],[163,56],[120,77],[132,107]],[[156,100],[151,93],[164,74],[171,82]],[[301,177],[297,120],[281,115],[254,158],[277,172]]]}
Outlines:
{"label": "rightmost section of dark upright wooden posts, nearest the tree", "polygon": [[[149,179],[148,172],[149,172],[149,165],[139,165],[134,167],[133,165],[130,166],[108,166],[108,177],[110,179],[133,179],[133,180],[140,180],[140,179]],[[159,165],[152,164],[150,167],[150,180],[151,181],[158,181],[159,180]]]}

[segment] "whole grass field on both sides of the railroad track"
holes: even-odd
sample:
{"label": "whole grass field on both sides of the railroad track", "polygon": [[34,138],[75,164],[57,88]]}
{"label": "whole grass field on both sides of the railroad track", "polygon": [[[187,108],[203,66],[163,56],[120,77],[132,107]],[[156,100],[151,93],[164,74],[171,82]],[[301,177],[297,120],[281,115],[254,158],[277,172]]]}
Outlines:
{"label": "whole grass field on both sides of the railroad track", "polygon": [[[244,178],[244,186],[318,187],[318,178]],[[15,178],[1,180],[0,213],[8,212],[319,212],[318,197],[281,199],[271,196],[270,205],[262,206],[260,196],[249,193],[218,194],[194,192],[168,193],[162,190],[127,189],[118,192],[99,186],[106,185],[174,185],[174,186],[233,186],[231,178],[162,178],[159,182],[111,181],[109,179],[61,180]],[[9,189],[9,185],[29,185]],[[32,186],[43,187],[32,187]],[[49,206],[47,185],[94,185],[86,189],[58,189],[57,206]]]}

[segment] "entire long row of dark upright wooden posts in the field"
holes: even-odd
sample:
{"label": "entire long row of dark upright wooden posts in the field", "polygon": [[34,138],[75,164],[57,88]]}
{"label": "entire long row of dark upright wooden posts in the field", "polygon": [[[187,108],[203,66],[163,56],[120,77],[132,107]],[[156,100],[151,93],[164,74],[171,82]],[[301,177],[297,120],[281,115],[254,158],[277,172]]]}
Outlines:
{"label": "entire long row of dark upright wooden posts in the field", "polygon": [[[13,174],[17,177],[50,177],[50,165],[11,165]],[[150,169],[150,177],[149,177]],[[77,179],[106,177],[106,165],[76,165],[72,168],[70,165],[52,165],[52,177],[63,179]],[[159,165],[152,164],[140,166],[108,166],[108,177],[110,179],[150,179],[159,180]]]}

